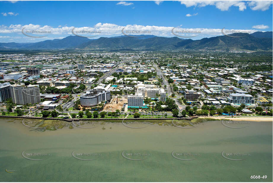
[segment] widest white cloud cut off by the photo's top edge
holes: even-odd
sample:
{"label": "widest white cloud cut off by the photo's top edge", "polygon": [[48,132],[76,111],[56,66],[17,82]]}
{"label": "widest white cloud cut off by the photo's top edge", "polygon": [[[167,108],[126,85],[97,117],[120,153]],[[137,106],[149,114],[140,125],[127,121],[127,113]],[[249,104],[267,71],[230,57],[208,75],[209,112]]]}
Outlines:
{"label": "widest white cloud cut off by the photo's top edge", "polygon": [[240,11],[246,9],[245,2],[243,1],[180,1],[181,4],[184,4],[186,7],[205,7],[205,6],[215,6],[221,11],[227,11],[229,7],[235,6],[239,7]]}

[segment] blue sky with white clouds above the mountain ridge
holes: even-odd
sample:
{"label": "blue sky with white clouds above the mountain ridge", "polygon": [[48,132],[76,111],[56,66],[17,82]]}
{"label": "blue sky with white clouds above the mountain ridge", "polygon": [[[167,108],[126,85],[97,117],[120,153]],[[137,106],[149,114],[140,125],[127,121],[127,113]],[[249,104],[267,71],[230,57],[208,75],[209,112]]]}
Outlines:
{"label": "blue sky with white clouds above the mountain ridge", "polygon": [[64,38],[73,28],[90,38],[175,33],[194,40],[222,36],[224,27],[272,31],[272,1],[0,1],[0,13],[0,42]]}

